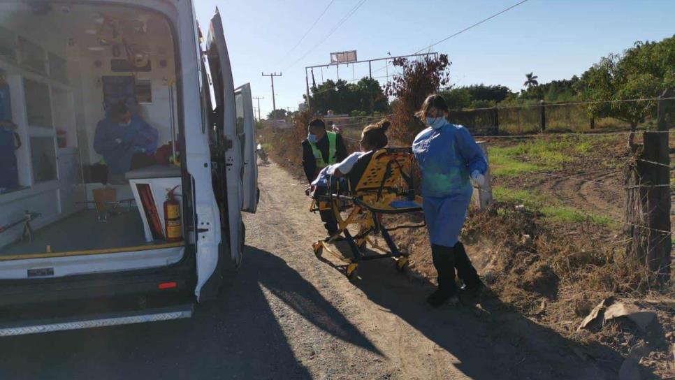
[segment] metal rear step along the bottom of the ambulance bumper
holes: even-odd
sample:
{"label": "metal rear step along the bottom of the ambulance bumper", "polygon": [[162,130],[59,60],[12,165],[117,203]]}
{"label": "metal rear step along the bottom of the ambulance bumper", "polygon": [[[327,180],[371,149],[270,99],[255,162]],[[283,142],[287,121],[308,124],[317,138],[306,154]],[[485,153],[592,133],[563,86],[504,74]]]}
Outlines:
{"label": "metal rear step along the bottom of the ambulance bumper", "polygon": [[80,328],[129,325],[131,323],[169,321],[171,319],[190,318],[193,312],[194,305],[185,304],[133,312],[90,314],[87,316],[71,316],[63,319],[41,321],[21,321],[20,323],[0,325],[0,337],[78,330]]}

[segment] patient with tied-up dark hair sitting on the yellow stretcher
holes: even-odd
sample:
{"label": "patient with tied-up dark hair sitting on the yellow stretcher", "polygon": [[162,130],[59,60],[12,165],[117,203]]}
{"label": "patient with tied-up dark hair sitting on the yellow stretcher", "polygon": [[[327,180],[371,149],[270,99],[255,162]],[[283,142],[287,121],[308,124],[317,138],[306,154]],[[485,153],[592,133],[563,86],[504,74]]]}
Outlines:
{"label": "patient with tied-up dark hair sitting on the yellow stretcher", "polygon": [[317,179],[312,182],[313,192],[324,192],[328,188],[329,180],[331,181],[331,188],[347,189],[347,178],[351,180],[351,184],[356,185],[368,166],[372,154],[386,147],[389,143],[386,131],[390,125],[391,123],[388,120],[382,120],[376,124],[365,126],[359,142],[361,152],[354,152],[342,162],[323,168],[317,175]]}

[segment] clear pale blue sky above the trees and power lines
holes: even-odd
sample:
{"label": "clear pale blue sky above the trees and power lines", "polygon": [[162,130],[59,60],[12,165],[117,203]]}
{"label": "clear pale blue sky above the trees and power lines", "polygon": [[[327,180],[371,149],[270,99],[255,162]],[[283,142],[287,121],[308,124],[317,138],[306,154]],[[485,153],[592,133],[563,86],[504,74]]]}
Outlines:
{"label": "clear pale blue sky above the trees and power lines", "polygon": [[[411,54],[514,5],[517,0],[366,0],[356,13],[317,45],[359,0],[335,0],[305,39],[296,45],[330,0],[195,1],[204,31],[218,6],[233,66],[235,85],[250,82],[253,96],[264,96],[264,114],[272,110],[270,78],[275,78],[277,108],[296,109],[305,93],[305,66],[327,64],[330,52],[356,50],[358,59]],[[521,89],[525,73],[539,82],[583,73],[610,52],[635,41],[658,41],[675,34],[674,0],[529,0],[474,29],[434,47],[452,61],[457,85],[506,85]],[[311,51],[310,51],[311,50]],[[307,54],[303,59],[303,55]],[[298,59],[300,59],[298,61]],[[384,62],[373,76],[386,75]],[[389,74],[394,68],[389,66]],[[356,78],[368,65],[354,67]],[[314,71],[321,81],[321,71]],[[324,80],[335,80],[335,68]],[[340,78],[352,67],[340,66]],[[384,84],[386,78],[379,79]],[[254,103],[254,105],[256,105]]]}

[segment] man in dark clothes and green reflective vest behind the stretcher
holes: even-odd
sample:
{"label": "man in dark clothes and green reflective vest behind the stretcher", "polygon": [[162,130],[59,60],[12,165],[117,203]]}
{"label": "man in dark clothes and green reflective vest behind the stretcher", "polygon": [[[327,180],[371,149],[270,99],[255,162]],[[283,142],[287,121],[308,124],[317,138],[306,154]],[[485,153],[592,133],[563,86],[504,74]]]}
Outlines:
{"label": "man in dark clothes and green reflective vest behind the stretcher", "polygon": [[[307,182],[312,183],[321,169],[347,158],[347,147],[339,133],[326,131],[326,123],[314,119],[307,128],[307,138],[303,141],[303,169]],[[337,232],[337,221],[331,210],[320,211],[321,221],[328,235]]]}

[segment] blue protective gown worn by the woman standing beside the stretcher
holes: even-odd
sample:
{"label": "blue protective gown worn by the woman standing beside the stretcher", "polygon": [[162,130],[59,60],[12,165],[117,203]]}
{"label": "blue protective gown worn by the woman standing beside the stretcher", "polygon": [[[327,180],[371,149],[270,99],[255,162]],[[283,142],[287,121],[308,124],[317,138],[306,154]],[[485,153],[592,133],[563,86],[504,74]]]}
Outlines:
{"label": "blue protective gown worn by the woman standing beside the stretcher", "polygon": [[488,170],[485,155],[467,129],[450,123],[421,131],[412,151],[422,173],[422,207],[431,243],[453,247],[471,202],[470,175]]}

